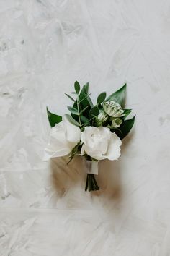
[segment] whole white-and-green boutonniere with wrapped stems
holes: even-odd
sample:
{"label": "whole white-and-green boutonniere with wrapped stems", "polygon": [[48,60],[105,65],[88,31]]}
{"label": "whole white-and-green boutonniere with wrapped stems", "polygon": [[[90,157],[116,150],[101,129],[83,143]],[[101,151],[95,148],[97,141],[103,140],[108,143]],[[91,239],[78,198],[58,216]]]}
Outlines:
{"label": "whole white-and-green boutonniere with wrapped stems", "polygon": [[51,132],[45,159],[66,156],[68,163],[75,155],[84,157],[87,169],[85,190],[99,190],[95,179],[98,163],[103,159],[111,161],[120,157],[122,139],[132,129],[135,116],[127,119],[132,109],[125,108],[126,84],[112,95],[100,93],[97,102],[92,103],[89,82],[82,88],[74,83],[74,91],[66,96],[73,102],[68,106],[69,114],[59,116],[48,108]]}

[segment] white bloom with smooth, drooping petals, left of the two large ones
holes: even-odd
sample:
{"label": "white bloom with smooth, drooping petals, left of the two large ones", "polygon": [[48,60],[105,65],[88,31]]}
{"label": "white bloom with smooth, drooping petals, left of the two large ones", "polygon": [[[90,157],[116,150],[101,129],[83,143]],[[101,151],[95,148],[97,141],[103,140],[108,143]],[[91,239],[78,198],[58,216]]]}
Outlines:
{"label": "white bloom with smooth, drooping petals, left of the two large ones", "polygon": [[71,124],[67,116],[63,116],[63,121],[55,124],[50,132],[50,140],[45,148],[44,160],[49,158],[68,155],[71,150],[80,142],[81,130],[76,125]]}

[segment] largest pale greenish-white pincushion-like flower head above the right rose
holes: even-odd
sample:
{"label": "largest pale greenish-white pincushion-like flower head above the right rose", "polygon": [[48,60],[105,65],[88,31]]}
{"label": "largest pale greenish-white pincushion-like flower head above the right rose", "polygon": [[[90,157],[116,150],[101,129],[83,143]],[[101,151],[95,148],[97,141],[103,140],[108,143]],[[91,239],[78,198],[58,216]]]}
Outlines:
{"label": "largest pale greenish-white pincushion-like flower head above the right rose", "polygon": [[122,109],[120,104],[115,101],[105,101],[103,103],[103,108],[104,108],[104,111],[109,116],[112,116],[112,117],[124,116],[123,115],[124,110]]}

